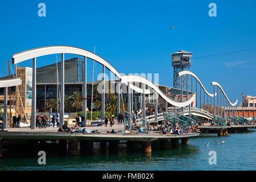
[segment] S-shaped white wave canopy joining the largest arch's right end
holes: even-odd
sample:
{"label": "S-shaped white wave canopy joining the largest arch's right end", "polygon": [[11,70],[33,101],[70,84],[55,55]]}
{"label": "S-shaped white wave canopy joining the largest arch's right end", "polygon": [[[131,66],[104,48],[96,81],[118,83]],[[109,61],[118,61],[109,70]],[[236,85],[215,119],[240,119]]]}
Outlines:
{"label": "S-shaped white wave canopy joining the largest arch's right end", "polygon": [[193,102],[193,100],[195,100],[195,94],[193,95],[193,97],[191,97],[188,101],[185,101],[185,102],[176,102],[174,100],[171,100],[155,84],[153,84],[151,81],[141,76],[135,76],[135,75],[122,76],[121,81],[123,83],[124,82],[141,82],[142,84],[148,85],[152,89],[156,90],[156,92],[159,94],[159,96],[163,98],[163,100],[167,101],[169,104],[174,105],[176,107],[188,106]]}

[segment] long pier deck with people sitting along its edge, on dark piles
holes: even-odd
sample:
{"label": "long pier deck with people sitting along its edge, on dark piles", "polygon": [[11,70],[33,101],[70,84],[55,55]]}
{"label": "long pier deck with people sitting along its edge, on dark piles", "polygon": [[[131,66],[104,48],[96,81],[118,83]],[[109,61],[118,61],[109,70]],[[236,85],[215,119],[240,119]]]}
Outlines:
{"label": "long pier deck with people sitting along its edge, on dark piles", "polygon": [[[123,125],[122,125],[123,126]],[[129,141],[152,141],[158,139],[172,139],[172,138],[188,138],[197,137],[199,133],[188,133],[183,135],[163,135],[157,131],[149,131],[148,134],[111,134],[106,131],[122,130],[121,124],[113,127],[93,126],[86,127],[90,130],[98,130],[101,133],[67,133],[57,132],[57,128],[47,127],[46,129],[31,130],[29,128],[14,128],[9,129],[8,132],[1,132],[2,139],[79,139],[79,140],[129,140]]]}

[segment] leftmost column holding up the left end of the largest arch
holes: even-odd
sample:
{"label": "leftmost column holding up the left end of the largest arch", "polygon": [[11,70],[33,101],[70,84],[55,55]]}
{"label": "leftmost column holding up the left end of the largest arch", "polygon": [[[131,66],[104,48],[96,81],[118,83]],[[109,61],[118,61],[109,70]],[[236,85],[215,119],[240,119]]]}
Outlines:
{"label": "leftmost column holding up the left end of the largest arch", "polygon": [[36,58],[32,60],[32,107],[30,129],[36,129]]}

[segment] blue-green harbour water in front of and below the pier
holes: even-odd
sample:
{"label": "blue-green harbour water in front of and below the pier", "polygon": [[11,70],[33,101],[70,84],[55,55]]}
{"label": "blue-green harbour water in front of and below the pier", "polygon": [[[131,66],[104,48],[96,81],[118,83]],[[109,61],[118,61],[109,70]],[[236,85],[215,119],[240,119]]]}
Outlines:
{"label": "blue-green harbour water in front of and below the pier", "polygon": [[[225,143],[216,142],[225,140]],[[38,158],[3,158],[1,170],[256,170],[256,130],[229,134],[228,137],[197,137],[188,145],[167,151],[153,151],[151,156],[127,152],[119,144],[118,154],[59,157],[47,156],[47,164],[39,166]],[[209,142],[209,146],[205,145]],[[217,164],[209,164],[209,151],[216,151]]]}

